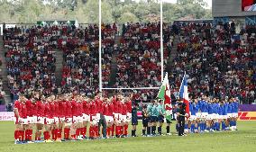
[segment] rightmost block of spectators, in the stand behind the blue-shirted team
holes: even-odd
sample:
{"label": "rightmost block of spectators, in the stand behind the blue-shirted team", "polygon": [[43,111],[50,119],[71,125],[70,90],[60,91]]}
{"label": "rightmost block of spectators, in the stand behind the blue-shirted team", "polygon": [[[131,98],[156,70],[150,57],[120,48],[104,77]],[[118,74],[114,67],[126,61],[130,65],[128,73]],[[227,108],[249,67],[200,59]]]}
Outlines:
{"label": "rightmost block of spectators, in the stand behind the blue-shirted team", "polygon": [[234,23],[183,24],[179,27],[178,57],[174,58],[169,82],[174,92],[184,72],[188,92],[223,98],[235,96],[242,103],[255,100],[255,26],[238,34]]}

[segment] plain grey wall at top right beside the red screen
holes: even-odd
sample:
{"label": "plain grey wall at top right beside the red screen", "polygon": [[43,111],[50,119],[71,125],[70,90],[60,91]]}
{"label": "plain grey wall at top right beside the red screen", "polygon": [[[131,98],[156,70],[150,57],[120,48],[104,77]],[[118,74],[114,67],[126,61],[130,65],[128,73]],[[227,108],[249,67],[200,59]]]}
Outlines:
{"label": "plain grey wall at top right beside the red screen", "polygon": [[256,12],[242,12],[242,0],[212,0],[213,16],[250,16]]}

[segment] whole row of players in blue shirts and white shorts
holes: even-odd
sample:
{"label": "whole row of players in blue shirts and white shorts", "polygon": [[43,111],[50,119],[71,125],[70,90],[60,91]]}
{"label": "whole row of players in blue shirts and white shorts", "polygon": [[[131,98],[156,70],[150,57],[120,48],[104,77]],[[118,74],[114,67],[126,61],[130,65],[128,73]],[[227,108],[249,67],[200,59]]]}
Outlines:
{"label": "whole row of players in blue shirts and white shorts", "polygon": [[236,130],[238,100],[226,97],[225,100],[209,99],[202,96],[189,102],[190,117],[186,120],[185,132],[209,132]]}

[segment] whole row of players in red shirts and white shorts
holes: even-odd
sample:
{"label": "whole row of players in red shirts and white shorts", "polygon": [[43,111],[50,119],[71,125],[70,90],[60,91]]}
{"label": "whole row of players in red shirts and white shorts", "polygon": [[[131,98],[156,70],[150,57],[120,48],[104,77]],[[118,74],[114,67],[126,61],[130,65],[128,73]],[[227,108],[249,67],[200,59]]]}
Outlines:
{"label": "whole row of players in red shirts and white shorts", "polygon": [[15,126],[14,139],[32,141],[32,128],[36,126],[35,140],[83,139],[100,136],[98,122],[104,116],[107,137],[128,135],[128,124],[132,119],[132,101],[130,97],[118,94],[111,98],[94,99],[82,95],[54,95],[44,98],[35,94],[27,99],[21,94],[14,102]]}

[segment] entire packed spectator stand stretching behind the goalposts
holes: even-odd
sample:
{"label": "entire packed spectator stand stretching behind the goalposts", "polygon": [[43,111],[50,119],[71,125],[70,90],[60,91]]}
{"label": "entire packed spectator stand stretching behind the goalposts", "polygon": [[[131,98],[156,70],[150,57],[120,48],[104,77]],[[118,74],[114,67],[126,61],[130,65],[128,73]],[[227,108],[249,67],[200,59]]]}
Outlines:
{"label": "entire packed spectator stand stretching behind the goalposts", "polygon": [[[160,86],[159,22],[127,23],[118,28],[115,24],[102,24],[103,86],[110,87],[111,83],[117,88]],[[242,103],[253,103],[255,26],[248,25],[238,34],[233,23],[216,27],[184,23],[178,28],[164,24],[163,28],[164,63],[173,98],[178,94],[181,76],[187,71],[188,89],[193,97],[201,93],[221,98],[236,96]],[[177,31],[179,34],[175,36]],[[174,37],[177,46],[173,46]],[[36,91],[46,96],[69,92],[96,94],[96,25],[10,28],[5,31],[4,45],[8,50],[5,59],[13,101],[20,92]],[[56,51],[63,51],[61,86],[56,85]],[[157,92],[139,90],[134,96],[138,102],[148,102]]]}

